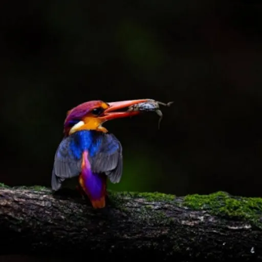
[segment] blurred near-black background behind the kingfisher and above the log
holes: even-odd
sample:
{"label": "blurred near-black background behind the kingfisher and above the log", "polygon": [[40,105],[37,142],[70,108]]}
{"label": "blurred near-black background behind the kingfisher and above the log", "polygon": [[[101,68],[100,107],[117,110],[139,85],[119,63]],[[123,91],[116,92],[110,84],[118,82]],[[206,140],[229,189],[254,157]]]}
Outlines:
{"label": "blurred near-black background behind the kingfisher and above the log", "polygon": [[174,101],[107,122],[114,190],[262,197],[262,5],[257,1],[2,1],[1,177],[50,186],[79,103]]}

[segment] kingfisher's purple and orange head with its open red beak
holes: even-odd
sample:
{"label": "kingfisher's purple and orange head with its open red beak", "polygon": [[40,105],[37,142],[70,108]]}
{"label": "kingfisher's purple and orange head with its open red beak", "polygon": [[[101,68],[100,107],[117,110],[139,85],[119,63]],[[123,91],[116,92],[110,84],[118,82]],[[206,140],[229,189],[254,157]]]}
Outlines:
{"label": "kingfisher's purple and orange head with its open red beak", "polygon": [[[97,130],[107,132],[102,124],[107,120],[138,115],[139,111],[124,111],[128,106],[146,102],[148,99],[118,102],[89,101],[77,105],[68,111],[64,120],[64,135],[69,136],[79,130]],[[122,111],[121,111],[122,110]]]}

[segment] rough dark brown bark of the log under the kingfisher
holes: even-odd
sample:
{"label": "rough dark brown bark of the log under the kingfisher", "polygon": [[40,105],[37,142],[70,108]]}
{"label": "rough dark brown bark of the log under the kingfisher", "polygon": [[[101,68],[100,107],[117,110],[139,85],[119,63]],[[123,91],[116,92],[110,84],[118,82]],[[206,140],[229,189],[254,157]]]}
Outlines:
{"label": "rough dark brown bark of the log under the kingfisher", "polygon": [[262,260],[258,226],[183,203],[163,194],[111,193],[106,209],[93,210],[86,200],[48,189],[1,188],[0,254]]}

